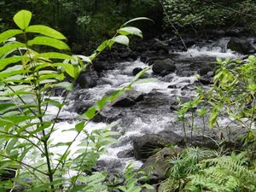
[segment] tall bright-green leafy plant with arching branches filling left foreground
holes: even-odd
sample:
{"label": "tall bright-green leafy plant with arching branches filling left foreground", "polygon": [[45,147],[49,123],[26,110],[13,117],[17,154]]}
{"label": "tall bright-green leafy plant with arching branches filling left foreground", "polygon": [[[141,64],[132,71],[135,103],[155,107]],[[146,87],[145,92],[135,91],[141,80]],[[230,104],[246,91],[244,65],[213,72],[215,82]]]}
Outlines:
{"label": "tall bright-green leafy plant with arching branches filling left foreground", "polygon": [[[13,191],[19,187],[22,191],[108,191],[107,174],[92,172],[92,167],[106,152],[106,146],[115,142],[113,136],[118,133],[111,128],[116,123],[94,131],[87,131],[86,125],[109,102],[131,90],[132,84],[137,83],[149,67],[138,73],[130,84],[103,97],[82,114],[77,119],[79,122],[67,130],[76,133],[71,141],[53,143],[52,134],[59,129],[56,123],[61,108],[67,105],[67,96],[58,101],[49,94],[56,87],[73,90],[79,74],[86,71],[104,49],[115,43],[128,45],[128,35],[141,37],[142,34],[137,28],[122,26],[123,29],[92,55],[69,55],[61,32],[49,26],[32,26],[31,19],[31,12],[21,10],[14,16],[20,29],[0,34],[0,142],[3,143],[0,145],[0,190]],[[67,76],[73,78],[72,83],[65,81]],[[50,106],[58,108],[53,119],[47,118]],[[81,141],[80,135],[83,135]],[[79,149],[73,151],[75,142],[79,143]],[[56,147],[64,150],[53,154]],[[8,172],[14,176],[2,179]],[[72,176],[68,177],[71,172]]]}

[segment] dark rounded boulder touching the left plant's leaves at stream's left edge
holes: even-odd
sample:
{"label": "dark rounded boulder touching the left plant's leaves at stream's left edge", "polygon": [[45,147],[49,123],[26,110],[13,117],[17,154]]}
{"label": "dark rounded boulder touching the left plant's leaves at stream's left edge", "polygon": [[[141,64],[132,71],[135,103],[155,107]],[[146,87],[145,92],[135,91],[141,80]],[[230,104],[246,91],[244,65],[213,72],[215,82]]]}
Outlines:
{"label": "dark rounded boulder touching the left plant's leaves at stream's left edge", "polygon": [[81,73],[77,79],[77,84],[83,89],[96,86],[97,74],[94,72]]}

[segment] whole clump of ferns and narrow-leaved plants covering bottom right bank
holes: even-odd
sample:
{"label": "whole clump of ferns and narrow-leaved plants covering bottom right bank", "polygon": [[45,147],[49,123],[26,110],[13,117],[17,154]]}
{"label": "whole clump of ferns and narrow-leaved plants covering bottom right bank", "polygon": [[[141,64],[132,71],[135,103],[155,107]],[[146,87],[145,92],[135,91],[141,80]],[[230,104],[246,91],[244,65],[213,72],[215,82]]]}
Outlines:
{"label": "whole clump of ferns and narrow-leaved plants covering bottom right bank", "polygon": [[255,161],[247,152],[221,154],[200,148],[186,148],[170,160],[169,177],[160,192],[254,191]]}

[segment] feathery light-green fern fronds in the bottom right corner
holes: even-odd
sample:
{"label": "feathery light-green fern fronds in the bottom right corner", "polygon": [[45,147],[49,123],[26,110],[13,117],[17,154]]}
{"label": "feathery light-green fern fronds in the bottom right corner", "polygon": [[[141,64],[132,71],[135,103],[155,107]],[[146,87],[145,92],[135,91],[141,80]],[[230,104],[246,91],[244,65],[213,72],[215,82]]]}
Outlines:
{"label": "feathery light-green fern fronds in the bottom right corner", "polygon": [[248,165],[246,156],[246,152],[232,153],[201,161],[200,172],[188,177],[185,191],[255,191],[256,170]]}

